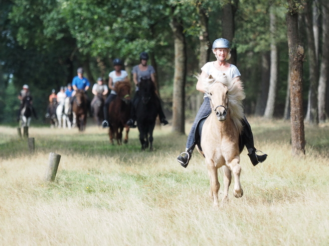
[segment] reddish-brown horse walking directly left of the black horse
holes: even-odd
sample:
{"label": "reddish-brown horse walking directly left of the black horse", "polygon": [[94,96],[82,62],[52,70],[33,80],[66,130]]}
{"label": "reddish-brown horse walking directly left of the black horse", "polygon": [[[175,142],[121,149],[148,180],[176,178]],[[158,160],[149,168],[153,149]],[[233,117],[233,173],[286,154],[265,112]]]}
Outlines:
{"label": "reddish-brown horse walking directly left of the black horse", "polygon": [[117,97],[109,105],[109,136],[111,144],[114,144],[113,138],[115,137],[118,145],[121,145],[124,128],[126,129],[124,143],[128,143],[129,126],[126,122],[129,120],[131,110],[130,82],[116,82],[114,90],[117,92]]}

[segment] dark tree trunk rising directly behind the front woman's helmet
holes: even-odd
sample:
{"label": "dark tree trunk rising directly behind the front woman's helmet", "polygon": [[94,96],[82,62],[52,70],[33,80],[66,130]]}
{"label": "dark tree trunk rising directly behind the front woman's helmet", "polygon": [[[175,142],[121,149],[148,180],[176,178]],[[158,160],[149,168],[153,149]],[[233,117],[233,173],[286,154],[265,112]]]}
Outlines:
{"label": "dark tree trunk rising directly behind the front woman's helmet", "polygon": [[230,63],[233,65],[236,65],[237,61],[237,54],[236,54],[236,48],[232,46],[232,41],[234,38],[234,30],[235,30],[235,23],[234,23],[234,15],[236,12],[236,5],[238,0],[234,0],[235,3],[231,4],[225,4],[223,7],[222,12],[222,37],[218,38],[226,38],[228,41],[230,41],[231,44],[231,58]]}

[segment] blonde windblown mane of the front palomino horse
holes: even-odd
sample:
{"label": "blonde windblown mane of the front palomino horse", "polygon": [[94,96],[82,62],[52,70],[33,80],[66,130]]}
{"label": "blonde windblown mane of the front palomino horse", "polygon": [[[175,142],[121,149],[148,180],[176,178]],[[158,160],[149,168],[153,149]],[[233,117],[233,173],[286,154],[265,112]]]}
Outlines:
{"label": "blonde windblown mane of the front palomino horse", "polygon": [[[195,77],[198,79],[200,78],[199,75],[196,75]],[[241,133],[243,129],[241,120],[244,118],[242,100],[245,98],[242,81],[238,77],[230,79],[223,74],[216,78],[213,78],[210,75],[209,77],[202,79],[201,82],[205,91],[209,91],[211,86],[218,82],[227,87],[230,117],[239,130],[239,133]]]}

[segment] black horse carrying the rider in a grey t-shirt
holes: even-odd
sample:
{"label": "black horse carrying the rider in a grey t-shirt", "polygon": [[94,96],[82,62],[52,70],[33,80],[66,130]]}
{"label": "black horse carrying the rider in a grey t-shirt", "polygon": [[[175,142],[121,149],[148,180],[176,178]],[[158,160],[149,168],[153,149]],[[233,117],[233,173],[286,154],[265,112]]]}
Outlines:
{"label": "black horse carrying the rider in a grey t-shirt", "polygon": [[141,79],[139,82],[139,91],[141,98],[136,100],[135,112],[137,118],[137,126],[140,132],[140,142],[142,151],[149,148],[153,150],[153,130],[156,125],[158,116],[158,100],[156,94],[156,86],[151,79]]}

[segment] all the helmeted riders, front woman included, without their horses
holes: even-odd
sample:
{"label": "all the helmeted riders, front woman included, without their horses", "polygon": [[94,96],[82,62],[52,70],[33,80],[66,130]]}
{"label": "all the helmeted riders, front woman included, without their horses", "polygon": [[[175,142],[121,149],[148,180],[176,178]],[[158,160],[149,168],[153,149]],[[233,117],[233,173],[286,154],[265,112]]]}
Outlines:
{"label": "all the helmeted riders, front woman included, without their horses", "polygon": [[[206,63],[201,68],[202,73],[200,75],[200,79],[198,80],[198,82],[196,84],[196,89],[203,93],[205,91],[201,85],[201,80],[209,75],[218,76],[219,74],[226,74],[229,77],[231,77],[232,79],[235,77],[239,77],[241,75],[236,66],[227,62],[227,60],[230,58],[230,43],[228,40],[226,40],[224,38],[216,39],[213,42],[212,51],[216,57],[216,61]],[[155,70],[151,65],[148,65],[148,59],[149,59],[148,53],[142,52],[140,54],[140,64],[136,65],[132,70],[133,80],[136,85],[136,89],[135,89],[135,96],[134,96],[134,99],[132,102],[133,106],[131,107],[132,108],[131,117],[127,122],[127,124],[130,127],[136,127],[136,125],[135,125],[136,116],[135,116],[135,106],[134,106],[135,103],[134,102],[136,102],[140,98],[138,83],[141,82],[142,78],[151,79],[153,82],[155,82]],[[105,96],[105,95],[107,95],[109,89],[111,90],[109,96],[107,96],[105,103],[104,103],[104,108],[103,108],[104,121],[102,122],[103,128],[108,128],[110,126],[110,123],[109,123],[110,121],[108,118],[108,115],[109,115],[108,108],[109,108],[110,103],[117,97],[117,93],[114,90],[115,83],[121,82],[121,81],[122,82],[128,81],[128,73],[125,70],[122,70],[122,65],[123,64],[120,59],[114,59],[113,60],[114,71],[109,73],[108,86],[106,84],[103,84],[102,78],[98,78],[97,83],[95,83],[92,88],[92,92],[95,96],[94,96],[94,99],[92,100],[91,104],[93,104],[94,101],[96,100],[95,98],[96,98],[97,94],[101,93],[102,95]],[[90,82],[88,81],[88,79],[83,77],[83,72],[84,71],[82,68],[78,68],[78,70],[77,70],[78,75],[73,78],[72,84],[68,84],[67,88],[61,87],[60,91],[57,93],[57,95],[55,94],[55,91],[53,90],[52,91],[53,93],[49,96],[49,101],[53,102],[54,98],[56,98],[56,101],[60,103],[66,97],[73,98],[75,91],[78,89],[87,91],[90,86]],[[18,98],[21,100],[27,94],[29,94],[28,85],[24,84],[23,90],[21,90]],[[87,97],[87,94],[86,94],[86,97]],[[158,98],[158,100],[160,100],[159,97],[157,97],[157,98]],[[158,107],[158,114],[160,117],[160,121],[162,124],[166,125],[166,124],[168,124],[168,121],[165,119],[165,114],[162,110],[161,104],[158,103],[158,105],[160,105]],[[187,143],[186,143],[186,149],[184,152],[182,152],[177,157],[177,161],[183,167],[186,167],[188,165],[189,160],[191,159],[195,144],[196,144],[195,139],[194,139],[194,134],[195,134],[197,124],[200,119],[209,115],[210,112],[211,112],[210,100],[209,100],[208,95],[205,93],[204,102],[201,105],[198,114],[196,115],[196,118],[192,125],[192,129],[189,133]],[[258,163],[264,162],[267,158],[267,155],[266,154],[260,155],[260,156],[256,155],[258,150],[254,147],[253,135],[251,132],[250,125],[246,118],[244,118],[244,120],[243,120],[243,125],[244,125],[244,129],[243,129],[243,133],[241,135],[241,139],[243,141],[243,144],[247,147],[248,156],[249,156],[252,164],[256,165]]]}

